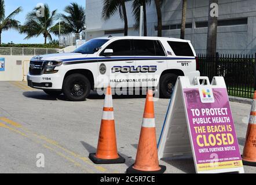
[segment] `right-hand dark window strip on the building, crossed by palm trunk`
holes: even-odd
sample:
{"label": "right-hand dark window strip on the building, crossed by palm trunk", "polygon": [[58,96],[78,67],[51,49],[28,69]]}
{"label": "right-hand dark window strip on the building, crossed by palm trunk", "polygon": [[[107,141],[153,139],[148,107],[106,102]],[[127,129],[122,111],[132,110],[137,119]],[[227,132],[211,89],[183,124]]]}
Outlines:
{"label": "right-hand dark window strip on the building, crossed by palm trunk", "polygon": [[[218,27],[226,27],[232,25],[247,25],[248,18],[236,18],[236,19],[226,19],[218,20]],[[208,21],[196,22],[196,28],[207,28]]]}

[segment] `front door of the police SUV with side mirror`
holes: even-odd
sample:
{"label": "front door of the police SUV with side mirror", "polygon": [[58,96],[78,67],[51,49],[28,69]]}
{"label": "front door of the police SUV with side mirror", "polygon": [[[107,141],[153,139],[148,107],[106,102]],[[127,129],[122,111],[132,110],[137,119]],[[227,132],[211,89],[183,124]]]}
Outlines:
{"label": "front door of the police SUV with side mirror", "polygon": [[[106,56],[104,51],[113,50],[113,53]],[[119,39],[109,43],[100,54],[98,60],[99,69],[104,67],[105,75],[101,81],[111,84],[111,87],[127,88],[131,86],[130,69],[134,68],[134,56],[131,51],[130,39]],[[102,75],[102,72],[100,72]]]}

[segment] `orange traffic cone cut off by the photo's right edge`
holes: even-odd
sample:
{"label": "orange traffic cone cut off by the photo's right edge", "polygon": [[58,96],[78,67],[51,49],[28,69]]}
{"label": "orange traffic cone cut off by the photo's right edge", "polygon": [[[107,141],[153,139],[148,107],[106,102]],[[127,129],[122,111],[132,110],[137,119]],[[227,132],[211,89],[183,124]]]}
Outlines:
{"label": "orange traffic cone cut off by the photo's right edge", "polygon": [[242,160],[244,165],[256,166],[256,91],[254,91],[253,103],[251,105]]}

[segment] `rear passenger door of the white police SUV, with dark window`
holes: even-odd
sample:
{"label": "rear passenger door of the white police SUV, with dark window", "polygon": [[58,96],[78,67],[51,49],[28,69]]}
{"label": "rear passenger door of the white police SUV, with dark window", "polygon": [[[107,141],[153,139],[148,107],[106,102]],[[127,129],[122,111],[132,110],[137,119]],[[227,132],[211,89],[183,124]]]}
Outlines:
{"label": "rear passenger door of the white police SUV, with dark window", "polygon": [[134,39],[133,46],[136,67],[141,68],[136,76],[141,81],[140,87],[158,86],[161,73],[167,69],[167,56],[160,41]]}

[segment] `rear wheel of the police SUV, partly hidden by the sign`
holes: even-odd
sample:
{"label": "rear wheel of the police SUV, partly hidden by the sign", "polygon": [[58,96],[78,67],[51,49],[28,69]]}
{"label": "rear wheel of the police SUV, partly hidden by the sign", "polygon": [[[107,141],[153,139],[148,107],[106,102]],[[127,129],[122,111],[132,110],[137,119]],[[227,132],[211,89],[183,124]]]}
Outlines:
{"label": "rear wheel of the police SUV, partly hidden by the sign", "polygon": [[166,73],[160,77],[160,97],[171,98],[178,76],[173,73]]}

